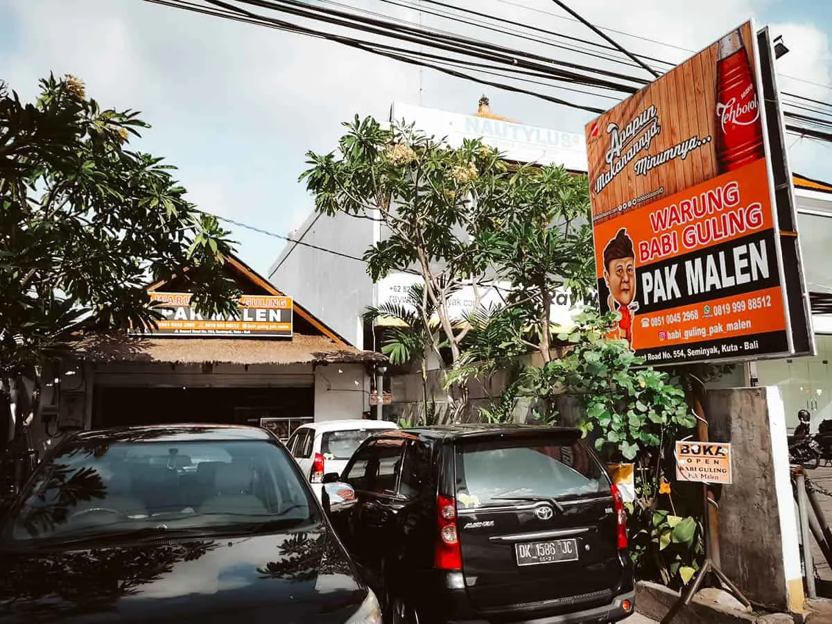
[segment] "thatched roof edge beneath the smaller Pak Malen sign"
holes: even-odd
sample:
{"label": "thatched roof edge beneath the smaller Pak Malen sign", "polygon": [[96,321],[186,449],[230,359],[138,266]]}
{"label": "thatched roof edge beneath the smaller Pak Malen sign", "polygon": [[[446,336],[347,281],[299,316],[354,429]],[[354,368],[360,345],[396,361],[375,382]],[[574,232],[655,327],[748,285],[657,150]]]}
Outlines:
{"label": "thatched roof edge beneath the smaller Pak Malen sign", "polygon": [[335,344],[326,336],[295,334],[291,339],[156,338],[90,334],[72,345],[94,363],[160,364],[362,364],[384,362],[382,354]]}

